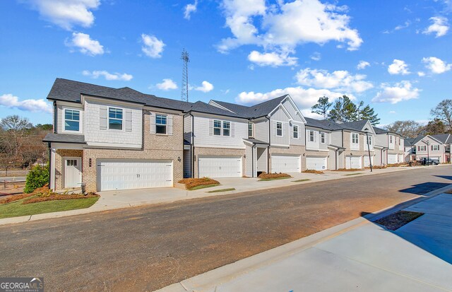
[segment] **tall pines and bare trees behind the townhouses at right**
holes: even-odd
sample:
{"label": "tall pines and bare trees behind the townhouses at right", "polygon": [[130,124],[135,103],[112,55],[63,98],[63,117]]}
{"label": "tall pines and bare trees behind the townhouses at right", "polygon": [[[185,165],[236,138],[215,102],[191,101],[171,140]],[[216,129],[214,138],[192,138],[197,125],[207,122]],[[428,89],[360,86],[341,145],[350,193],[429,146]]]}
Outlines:
{"label": "tall pines and bare trees behind the townhouses at right", "polygon": [[[311,112],[322,115],[324,119],[334,122],[354,122],[368,119],[372,125],[379,124],[379,117],[370,105],[364,102],[353,103],[347,95],[336,99],[331,103],[329,98],[322,96],[316,105],[311,107]],[[400,134],[407,138],[415,138],[419,135],[452,134],[452,100],[441,101],[430,110],[432,120],[427,125],[422,125],[412,119],[400,120],[388,124],[384,129]]]}

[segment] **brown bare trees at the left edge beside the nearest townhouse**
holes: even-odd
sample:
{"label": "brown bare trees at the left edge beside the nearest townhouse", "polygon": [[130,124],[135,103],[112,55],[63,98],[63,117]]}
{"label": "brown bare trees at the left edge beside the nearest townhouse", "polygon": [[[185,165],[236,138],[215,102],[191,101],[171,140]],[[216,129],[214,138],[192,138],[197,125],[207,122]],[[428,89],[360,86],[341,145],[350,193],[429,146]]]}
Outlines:
{"label": "brown bare trees at the left edge beside the nearest townhouse", "polygon": [[47,163],[49,149],[42,142],[52,124],[32,125],[29,119],[10,115],[0,122],[0,168],[27,168]]}

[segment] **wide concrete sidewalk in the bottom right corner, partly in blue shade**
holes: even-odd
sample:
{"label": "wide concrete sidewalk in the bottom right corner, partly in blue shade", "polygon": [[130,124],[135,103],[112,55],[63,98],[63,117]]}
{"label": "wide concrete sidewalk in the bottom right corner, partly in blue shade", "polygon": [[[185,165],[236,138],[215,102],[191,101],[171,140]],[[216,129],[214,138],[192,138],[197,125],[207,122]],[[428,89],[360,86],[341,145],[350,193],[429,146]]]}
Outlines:
{"label": "wide concrete sidewalk in the bottom right corner, partly in blue shade", "polygon": [[357,218],[159,291],[452,291],[452,194],[435,194],[371,218],[424,213],[396,231]]}

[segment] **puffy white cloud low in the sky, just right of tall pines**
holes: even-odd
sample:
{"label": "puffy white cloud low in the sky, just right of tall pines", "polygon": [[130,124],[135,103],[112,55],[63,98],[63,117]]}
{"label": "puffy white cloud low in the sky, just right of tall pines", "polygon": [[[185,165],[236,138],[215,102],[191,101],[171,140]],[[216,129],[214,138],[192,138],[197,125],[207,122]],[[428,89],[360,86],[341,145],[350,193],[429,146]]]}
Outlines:
{"label": "puffy white cloud low in the sky, just right of tall pines", "polygon": [[381,90],[372,98],[372,103],[400,103],[403,100],[411,100],[418,98],[420,89],[412,86],[410,81],[401,81],[394,86],[389,86],[387,83],[381,84]]}

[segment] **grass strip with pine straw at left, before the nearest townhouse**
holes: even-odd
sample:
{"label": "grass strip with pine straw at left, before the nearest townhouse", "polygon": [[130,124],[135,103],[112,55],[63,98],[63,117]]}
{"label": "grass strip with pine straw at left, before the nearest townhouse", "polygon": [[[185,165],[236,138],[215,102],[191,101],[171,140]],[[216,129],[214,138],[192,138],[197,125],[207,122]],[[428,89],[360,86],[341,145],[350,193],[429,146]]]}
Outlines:
{"label": "grass strip with pine straw at left, before the nearest townhouse", "polygon": [[65,199],[32,204],[22,204],[23,199],[21,199],[8,204],[1,204],[0,218],[11,218],[50,212],[85,209],[93,206],[93,204],[97,202],[98,199],[99,197],[91,197],[86,199]]}

